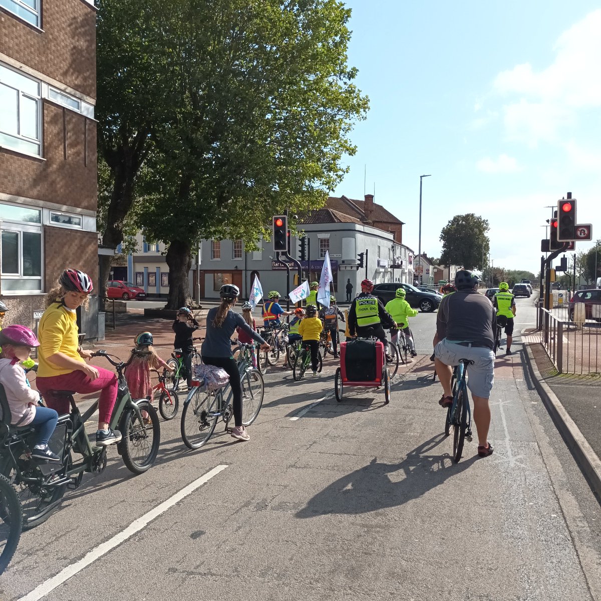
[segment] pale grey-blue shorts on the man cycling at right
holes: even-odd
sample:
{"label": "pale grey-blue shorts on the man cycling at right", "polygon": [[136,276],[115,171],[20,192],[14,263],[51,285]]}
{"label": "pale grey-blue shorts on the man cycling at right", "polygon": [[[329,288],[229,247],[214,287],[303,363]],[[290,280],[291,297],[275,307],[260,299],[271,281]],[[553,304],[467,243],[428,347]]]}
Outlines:
{"label": "pale grey-blue shorts on the man cycling at right", "polygon": [[434,347],[434,354],[445,365],[458,365],[459,359],[469,359],[468,388],[477,397],[489,398],[495,382],[495,355],[484,347],[462,346],[448,342],[446,338]]}

